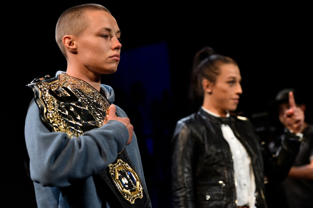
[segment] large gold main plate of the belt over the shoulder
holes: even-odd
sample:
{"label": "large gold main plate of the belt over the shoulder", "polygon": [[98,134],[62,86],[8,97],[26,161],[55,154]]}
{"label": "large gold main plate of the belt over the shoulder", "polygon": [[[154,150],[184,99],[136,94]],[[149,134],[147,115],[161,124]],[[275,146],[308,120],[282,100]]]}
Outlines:
{"label": "large gold main plate of the belt over the shoulder", "polygon": [[54,82],[40,80],[34,88],[41,118],[53,131],[78,137],[107,121],[110,102],[83,80],[63,73]]}

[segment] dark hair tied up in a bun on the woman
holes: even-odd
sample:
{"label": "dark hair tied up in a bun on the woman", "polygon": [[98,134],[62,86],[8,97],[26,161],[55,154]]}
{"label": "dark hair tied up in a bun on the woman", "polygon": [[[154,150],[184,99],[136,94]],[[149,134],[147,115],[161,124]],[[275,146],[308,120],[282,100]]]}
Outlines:
{"label": "dark hair tied up in a bun on the woman", "polygon": [[198,51],[193,59],[191,73],[191,97],[194,97],[194,93],[203,97],[202,80],[205,78],[210,82],[215,83],[216,78],[220,74],[219,66],[221,64],[230,63],[238,66],[232,58],[217,54],[211,47],[206,46]]}

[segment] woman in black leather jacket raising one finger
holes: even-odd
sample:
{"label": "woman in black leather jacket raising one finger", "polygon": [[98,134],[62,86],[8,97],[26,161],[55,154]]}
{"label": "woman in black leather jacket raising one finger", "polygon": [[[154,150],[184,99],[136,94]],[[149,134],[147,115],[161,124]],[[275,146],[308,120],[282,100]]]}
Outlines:
{"label": "woman in black leather jacket raising one finger", "polygon": [[192,73],[203,105],[174,131],[173,207],[266,207],[263,172],[274,180],[286,177],[299,150],[303,112],[290,103],[285,142],[269,155],[251,122],[229,113],[242,93],[237,63],[205,47],[196,54]]}

